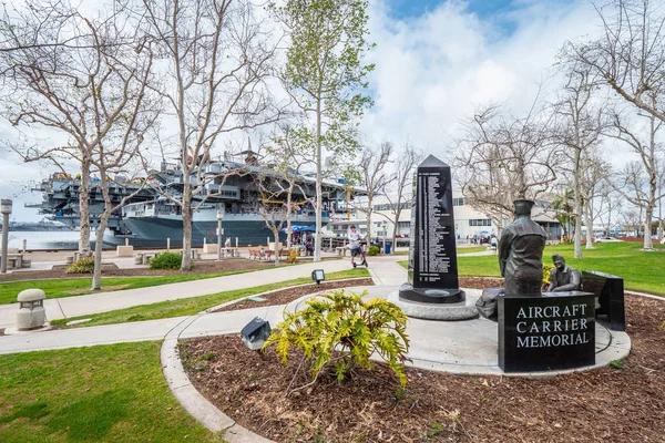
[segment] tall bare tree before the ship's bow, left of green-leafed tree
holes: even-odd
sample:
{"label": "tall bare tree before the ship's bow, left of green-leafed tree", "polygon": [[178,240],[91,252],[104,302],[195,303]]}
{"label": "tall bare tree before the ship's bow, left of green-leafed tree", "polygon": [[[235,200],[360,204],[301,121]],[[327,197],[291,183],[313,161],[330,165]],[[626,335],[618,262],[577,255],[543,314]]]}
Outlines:
{"label": "tall bare tree before the ship's bow, left of green-leafed tree", "polygon": [[211,196],[211,150],[223,134],[280,117],[266,83],[277,42],[247,0],[143,0],[143,10],[166,73],[157,91],[176,121],[183,188],[166,197],[182,209],[188,269],[192,217]]}

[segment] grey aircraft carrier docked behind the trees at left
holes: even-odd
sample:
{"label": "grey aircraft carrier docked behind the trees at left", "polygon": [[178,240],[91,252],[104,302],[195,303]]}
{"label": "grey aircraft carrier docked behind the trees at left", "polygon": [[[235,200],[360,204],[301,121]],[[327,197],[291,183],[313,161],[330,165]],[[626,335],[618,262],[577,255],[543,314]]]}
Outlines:
{"label": "grey aircraft carrier docked behind the trees at left", "polygon": [[[252,159],[252,154],[246,158]],[[223,215],[224,235],[237,237],[242,245],[263,244],[272,237],[265,222],[266,209],[282,208],[274,213],[286,217],[286,193],[278,190],[287,187],[288,183],[284,173],[275,172],[270,166],[259,166],[256,161],[211,161],[192,172],[187,178],[192,183],[202,183],[192,202],[192,206],[197,208],[192,220],[193,246],[216,241],[218,214]],[[293,171],[288,175],[295,177],[296,183],[291,195],[291,224],[314,226],[315,178]],[[114,205],[129,195],[135,195],[111,216],[109,229],[113,236],[105,240],[124,243],[124,238],[130,238],[136,245],[163,246],[170,238],[173,246],[182,245],[182,207],[177,202],[182,197],[184,181],[177,164],[163,162],[160,171],[151,172],[145,182],[115,182],[110,184]],[[92,227],[99,226],[99,215],[104,205],[98,183],[93,179],[90,184]],[[71,227],[80,225],[80,177],[57,173],[42,181],[37,190],[42,192],[42,202],[27,206],[39,208],[40,214],[49,219]],[[347,200],[352,194],[362,194],[362,190],[344,183],[324,183],[324,225],[330,222],[331,215],[346,213]]]}

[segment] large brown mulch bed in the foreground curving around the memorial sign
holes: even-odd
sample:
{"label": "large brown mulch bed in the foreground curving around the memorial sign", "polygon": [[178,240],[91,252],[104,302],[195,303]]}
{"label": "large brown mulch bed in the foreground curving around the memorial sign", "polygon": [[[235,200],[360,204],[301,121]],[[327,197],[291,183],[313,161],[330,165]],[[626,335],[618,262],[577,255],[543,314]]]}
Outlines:
{"label": "large brown mulch bed in the foreground curving around the memorial sign", "polygon": [[665,302],[626,296],[626,317],[633,349],[623,369],[549,379],[410,369],[406,391],[378,365],[285,396],[294,368],[237,336],[187,340],[181,354],[200,392],[278,442],[662,442]]}

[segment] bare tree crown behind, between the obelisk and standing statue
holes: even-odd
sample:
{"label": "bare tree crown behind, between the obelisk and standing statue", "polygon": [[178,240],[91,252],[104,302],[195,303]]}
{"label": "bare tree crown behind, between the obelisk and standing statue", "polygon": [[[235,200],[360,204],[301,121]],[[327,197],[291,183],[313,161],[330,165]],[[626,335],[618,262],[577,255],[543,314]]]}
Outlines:
{"label": "bare tree crown behind, between the obelisk and standing statue", "polygon": [[515,199],[536,199],[556,179],[549,124],[535,102],[525,117],[504,115],[490,105],[473,116],[460,142],[456,164],[463,168],[462,193],[500,230],[512,219]]}

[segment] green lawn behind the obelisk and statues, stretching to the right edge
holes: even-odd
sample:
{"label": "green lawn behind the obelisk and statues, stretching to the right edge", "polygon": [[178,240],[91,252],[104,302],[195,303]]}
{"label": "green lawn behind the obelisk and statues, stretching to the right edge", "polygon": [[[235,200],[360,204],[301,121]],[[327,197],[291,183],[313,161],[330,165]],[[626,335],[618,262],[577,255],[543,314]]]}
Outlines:
{"label": "green lawn behind the obelisk and statues, stretching to the right edge", "polygon": [[[566,264],[579,270],[598,270],[624,279],[624,287],[636,291],[665,295],[665,245],[658,250],[643,251],[640,243],[603,243],[593,249],[582,248],[584,258],[573,258],[572,245],[545,247],[543,262],[551,264],[553,254],[561,254]],[[407,261],[400,261],[407,267]],[[460,276],[500,277],[495,255],[458,257]]]}

